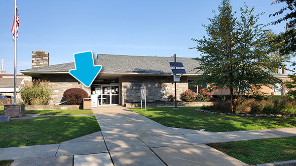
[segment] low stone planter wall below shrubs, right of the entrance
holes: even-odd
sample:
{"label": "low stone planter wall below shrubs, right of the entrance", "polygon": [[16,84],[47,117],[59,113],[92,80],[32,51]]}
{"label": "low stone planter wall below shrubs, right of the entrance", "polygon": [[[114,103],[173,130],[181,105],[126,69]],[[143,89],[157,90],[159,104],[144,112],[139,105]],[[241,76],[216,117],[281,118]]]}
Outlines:
{"label": "low stone planter wall below shrubs, right of the entrance", "polygon": [[[177,102],[178,107],[185,106],[213,106],[215,102]],[[141,103],[125,103],[127,108],[137,108],[141,107]],[[147,103],[147,107],[175,107],[175,102],[152,102]],[[143,103],[143,108],[145,108],[145,103]]]}

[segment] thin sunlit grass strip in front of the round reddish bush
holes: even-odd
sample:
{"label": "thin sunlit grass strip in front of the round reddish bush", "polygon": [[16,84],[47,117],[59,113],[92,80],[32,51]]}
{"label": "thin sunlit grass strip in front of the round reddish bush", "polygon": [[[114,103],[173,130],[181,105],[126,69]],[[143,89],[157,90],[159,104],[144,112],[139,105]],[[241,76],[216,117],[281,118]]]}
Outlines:
{"label": "thin sunlit grass strip in front of the round reddish bush", "polygon": [[[4,107],[0,108],[0,115],[4,114]],[[74,114],[94,114],[91,110],[26,110],[26,114],[41,115],[74,115]]]}

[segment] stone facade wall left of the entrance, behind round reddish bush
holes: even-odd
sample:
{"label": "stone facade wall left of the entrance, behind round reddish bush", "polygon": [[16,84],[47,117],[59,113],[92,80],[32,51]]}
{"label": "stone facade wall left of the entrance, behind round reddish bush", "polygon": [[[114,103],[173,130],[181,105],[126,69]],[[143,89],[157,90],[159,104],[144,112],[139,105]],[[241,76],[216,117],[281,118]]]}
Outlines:
{"label": "stone facade wall left of the entrance, behind round reddish bush", "polygon": [[63,94],[69,88],[82,88],[82,83],[79,83],[70,74],[42,74],[41,80],[50,82],[52,95],[49,100],[49,105],[54,105],[65,101]]}

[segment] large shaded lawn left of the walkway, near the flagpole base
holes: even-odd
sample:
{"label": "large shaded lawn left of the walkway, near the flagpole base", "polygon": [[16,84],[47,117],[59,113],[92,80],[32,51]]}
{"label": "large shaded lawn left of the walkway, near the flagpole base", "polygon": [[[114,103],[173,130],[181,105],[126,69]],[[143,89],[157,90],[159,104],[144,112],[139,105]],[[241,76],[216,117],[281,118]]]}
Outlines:
{"label": "large shaded lawn left of the walkway, near the flagpole base", "polygon": [[0,123],[0,147],[54,144],[100,131],[94,116],[59,116]]}

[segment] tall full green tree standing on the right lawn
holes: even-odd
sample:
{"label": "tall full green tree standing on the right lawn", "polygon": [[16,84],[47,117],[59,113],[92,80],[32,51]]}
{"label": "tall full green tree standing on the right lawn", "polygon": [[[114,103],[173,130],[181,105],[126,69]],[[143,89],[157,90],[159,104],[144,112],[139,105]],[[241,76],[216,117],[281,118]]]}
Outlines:
{"label": "tall full green tree standing on the right lawn", "polygon": [[[191,39],[197,42],[196,49],[202,54],[195,59],[202,71],[197,82],[209,83],[211,88],[228,88],[231,96],[231,110],[236,112],[238,100],[245,89],[256,92],[262,85],[272,85],[281,81],[270,74],[270,70],[279,66],[270,61],[268,54],[267,30],[258,25],[259,15],[252,13],[245,4],[240,8],[240,18],[234,17],[229,0],[222,0],[206,28],[208,37]],[[237,95],[236,100],[234,95]]]}

